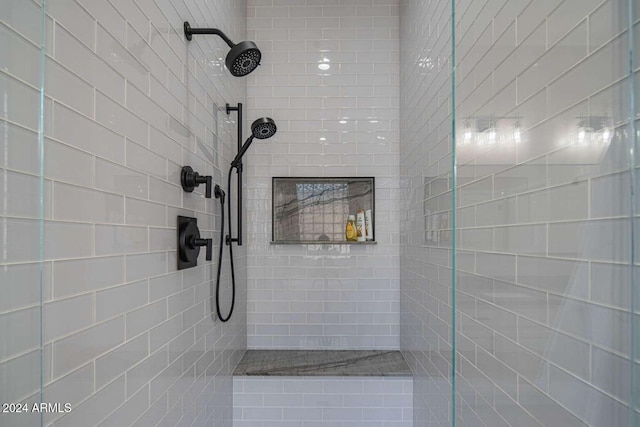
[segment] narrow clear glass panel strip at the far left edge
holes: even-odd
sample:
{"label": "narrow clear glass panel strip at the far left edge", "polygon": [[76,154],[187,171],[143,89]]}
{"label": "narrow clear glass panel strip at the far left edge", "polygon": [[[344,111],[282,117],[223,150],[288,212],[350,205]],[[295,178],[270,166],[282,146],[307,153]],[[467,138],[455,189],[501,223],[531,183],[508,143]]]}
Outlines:
{"label": "narrow clear glass panel strip at the far left edge", "polygon": [[0,11],[0,425],[41,425],[43,7]]}

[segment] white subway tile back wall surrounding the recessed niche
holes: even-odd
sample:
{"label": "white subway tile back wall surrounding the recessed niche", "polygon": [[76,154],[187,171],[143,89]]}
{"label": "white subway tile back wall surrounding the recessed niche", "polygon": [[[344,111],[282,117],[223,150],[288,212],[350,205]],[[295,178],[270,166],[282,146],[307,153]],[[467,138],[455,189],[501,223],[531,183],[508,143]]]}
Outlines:
{"label": "white subway tile back wall surrounding the recessed niche", "polygon": [[[398,7],[248,1],[247,120],[278,126],[245,166],[250,348],[399,347]],[[377,245],[270,245],[274,176],[374,176]]]}

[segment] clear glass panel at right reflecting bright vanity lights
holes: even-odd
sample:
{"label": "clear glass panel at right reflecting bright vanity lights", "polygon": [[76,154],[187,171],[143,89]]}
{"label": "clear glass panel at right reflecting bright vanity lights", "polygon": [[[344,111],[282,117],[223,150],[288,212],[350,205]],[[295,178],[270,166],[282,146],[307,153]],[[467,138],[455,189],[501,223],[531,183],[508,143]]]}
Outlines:
{"label": "clear glass panel at right reflecting bright vanity lights", "polygon": [[456,4],[457,426],[629,423],[627,7]]}

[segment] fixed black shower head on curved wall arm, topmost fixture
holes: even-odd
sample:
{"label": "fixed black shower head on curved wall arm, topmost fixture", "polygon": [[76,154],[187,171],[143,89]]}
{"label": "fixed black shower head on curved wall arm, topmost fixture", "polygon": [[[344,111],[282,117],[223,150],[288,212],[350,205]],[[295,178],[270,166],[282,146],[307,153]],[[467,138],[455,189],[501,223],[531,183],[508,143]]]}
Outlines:
{"label": "fixed black shower head on curved wall arm, topmost fixture", "polygon": [[235,44],[225,33],[217,28],[191,28],[189,22],[185,21],[184,35],[187,40],[191,40],[194,34],[214,34],[220,36],[229,45],[231,50],[227,54],[225,64],[231,74],[236,77],[246,76],[260,65],[262,53],[252,41],[243,41]]}

